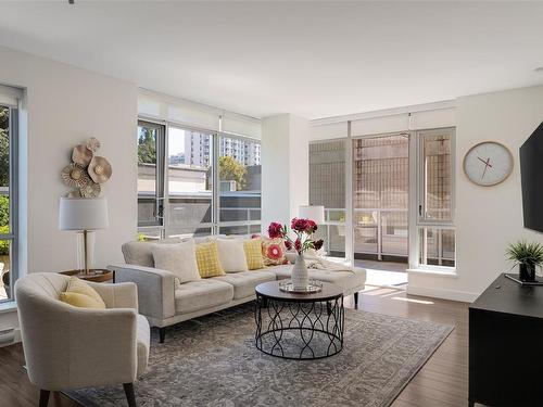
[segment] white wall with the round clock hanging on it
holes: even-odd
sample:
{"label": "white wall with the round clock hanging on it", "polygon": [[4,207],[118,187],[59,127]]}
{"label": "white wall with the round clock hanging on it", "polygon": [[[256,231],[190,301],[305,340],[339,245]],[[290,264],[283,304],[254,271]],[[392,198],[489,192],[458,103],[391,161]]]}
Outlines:
{"label": "white wall with the round clock hanging on it", "polygon": [[[543,87],[456,101],[457,278],[409,272],[409,293],[472,301],[500,272],[510,268],[504,255],[508,243],[522,238],[543,243],[543,234],[522,226],[518,152],[542,120]],[[515,157],[509,178],[490,188],[471,183],[462,167],[466,152],[485,140],[505,144]]]}

